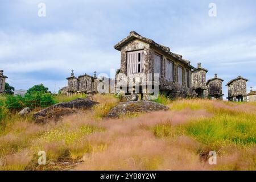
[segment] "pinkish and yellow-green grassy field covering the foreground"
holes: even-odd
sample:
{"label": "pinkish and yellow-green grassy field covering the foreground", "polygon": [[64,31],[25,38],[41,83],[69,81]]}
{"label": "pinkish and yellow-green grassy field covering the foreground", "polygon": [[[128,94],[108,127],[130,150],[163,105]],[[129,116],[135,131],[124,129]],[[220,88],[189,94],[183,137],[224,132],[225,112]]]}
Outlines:
{"label": "pinkish and yellow-green grassy field covering the foreground", "polygon": [[[104,119],[118,98],[93,99],[100,104],[92,110],[45,125],[34,123],[32,113],[5,111],[0,170],[256,170],[255,103],[163,97],[156,102],[168,111]],[[38,164],[39,151],[46,165]],[[209,151],[216,151],[216,165],[208,163]]]}

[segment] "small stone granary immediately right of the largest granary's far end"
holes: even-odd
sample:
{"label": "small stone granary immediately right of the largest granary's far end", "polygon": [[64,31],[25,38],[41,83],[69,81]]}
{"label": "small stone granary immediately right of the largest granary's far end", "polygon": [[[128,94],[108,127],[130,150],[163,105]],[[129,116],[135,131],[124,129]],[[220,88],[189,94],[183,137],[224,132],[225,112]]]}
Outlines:
{"label": "small stone granary immediately right of the largest granary's far end", "polygon": [[207,72],[208,69],[202,68],[201,63],[197,63],[197,68],[192,71],[192,89],[195,90],[199,98],[208,97]]}

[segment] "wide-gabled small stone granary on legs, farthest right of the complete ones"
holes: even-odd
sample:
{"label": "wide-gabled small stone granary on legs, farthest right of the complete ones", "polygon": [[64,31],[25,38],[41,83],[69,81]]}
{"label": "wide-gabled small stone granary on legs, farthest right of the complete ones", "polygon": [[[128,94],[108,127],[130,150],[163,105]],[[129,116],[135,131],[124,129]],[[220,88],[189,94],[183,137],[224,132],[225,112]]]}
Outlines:
{"label": "wide-gabled small stone granary on legs, farthest right of the complete ones", "polygon": [[246,82],[248,80],[241,76],[230,80],[226,86],[228,86],[228,100],[241,102],[246,101]]}

